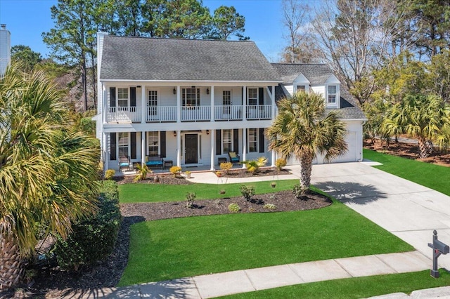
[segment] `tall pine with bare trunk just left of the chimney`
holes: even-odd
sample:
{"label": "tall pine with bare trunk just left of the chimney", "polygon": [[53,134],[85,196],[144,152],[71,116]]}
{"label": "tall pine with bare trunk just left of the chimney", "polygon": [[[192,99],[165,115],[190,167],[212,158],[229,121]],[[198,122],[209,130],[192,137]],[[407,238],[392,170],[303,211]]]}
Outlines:
{"label": "tall pine with bare trunk just left of the chimney", "polygon": [[[96,53],[95,4],[94,0],[59,0],[57,6],[51,7],[55,28],[42,34],[54,58],[79,67],[84,111],[88,109],[88,67],[95,67],[95,62],[89,61],[89,57],[94,58]],[[91,84],[93,87],[96,85],[95,81]]]}

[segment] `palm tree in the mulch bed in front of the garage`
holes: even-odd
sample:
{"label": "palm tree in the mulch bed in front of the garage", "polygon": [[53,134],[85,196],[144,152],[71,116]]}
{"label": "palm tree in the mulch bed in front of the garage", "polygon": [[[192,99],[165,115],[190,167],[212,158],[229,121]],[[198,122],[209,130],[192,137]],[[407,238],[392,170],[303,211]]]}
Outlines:
{"label": "palm tree in the mulch bed in front of the garage", "polygon": [[309,192],[312,161],[319,154],[330,160],[347,151],[345,124],[335,111],[326,112],[325,100],[317,93],[298,92],[278,102],[278,115],[266,130],[269,150],[284,159],[300,160],[300,185]]}

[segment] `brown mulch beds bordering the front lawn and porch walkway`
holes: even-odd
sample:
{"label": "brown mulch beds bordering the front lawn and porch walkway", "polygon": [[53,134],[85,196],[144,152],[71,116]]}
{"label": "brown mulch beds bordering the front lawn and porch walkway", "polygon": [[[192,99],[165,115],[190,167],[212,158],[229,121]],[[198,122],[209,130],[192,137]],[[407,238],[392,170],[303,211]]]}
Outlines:
{"label": "brown mulch beds bordering the front lawn and porch walkway", "polygon": [[[275,168],[267,168],[270,171],[261,171],[257,175],[283,175],[288,171],[276,171]],[[236,171],[237,173],[237,171]],[[231,173],[231,177],[247,175],[245,171],[239,174]],[[154,175],[149,175],[144,184],[191,184],[183,177],[174,178],[173,175],[158,175],[159,181],[154,180]],[[115,178],[118,184],[133,182],[134,175],[123,178]],[[0,293],[0,298],[63,298],[73,295],[74,291],[84,293],[89,290],[116,286],[127,265],[129,248],[129,227],[137,222],[147,220],[160,220],[168,218],[191,217],[198,215],[217,215],[231,213],[228,206],[236,203],[241,211],[238,213],[273,213],[278,211],[301,211],[329,206],[331,201],[321,194],[309,194],[307,200],[296,199],[293,192],[276,191],[270,194],[257,194],[251,201],[245,201],[243,197],[232,197],[214,200],[198,200],[193,208],[186,208],[186,201],[166,203],[121,204],[120,211],[123,215],[122,225],[113,253],[106,260],[94,267],[81,267],[78,272],[60,270],[56,263],[49,263],[44,267],[36,267],[37,276],[30,285],[20,286],[16,293]],[[274,204],[276,208],[269,210],[265,204]]]}

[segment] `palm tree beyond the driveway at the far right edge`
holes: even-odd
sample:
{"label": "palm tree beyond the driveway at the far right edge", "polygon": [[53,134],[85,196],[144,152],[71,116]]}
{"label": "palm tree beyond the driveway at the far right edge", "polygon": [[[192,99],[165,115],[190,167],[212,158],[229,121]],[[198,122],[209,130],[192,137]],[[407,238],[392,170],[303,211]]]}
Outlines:
{"label": "palm tree beyond the driveway at the far right edge", "polygon": [[444,101],[439,96],[409,94],[387,112],[382,131],[417,138],[419,157],[423,159],[432,152],[431,140],[437,138],[445,119]]}

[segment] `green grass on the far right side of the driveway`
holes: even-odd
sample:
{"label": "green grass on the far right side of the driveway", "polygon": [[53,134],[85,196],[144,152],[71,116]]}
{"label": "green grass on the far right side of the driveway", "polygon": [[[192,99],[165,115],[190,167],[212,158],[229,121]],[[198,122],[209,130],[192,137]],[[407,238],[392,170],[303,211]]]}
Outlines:
{"label": "green grass on the far right side of the driveway", "polygon": [[373,150],[364,149],[363,153],[364,159],[383,164],[375,168],[450,196],[450,167],[382,154]]}

